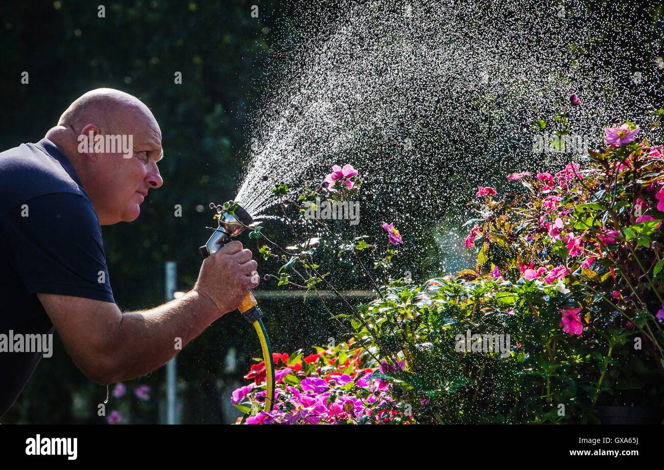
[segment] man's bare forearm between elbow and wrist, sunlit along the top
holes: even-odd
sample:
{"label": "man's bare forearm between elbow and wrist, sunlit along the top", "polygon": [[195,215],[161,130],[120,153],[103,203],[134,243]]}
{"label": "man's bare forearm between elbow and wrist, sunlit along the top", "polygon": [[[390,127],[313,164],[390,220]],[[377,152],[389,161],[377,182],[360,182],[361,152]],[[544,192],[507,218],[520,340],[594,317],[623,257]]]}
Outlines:
{"label": "man's bare forearm between elbow and wrist, sunlit along the top", "polygon": [[115,335],[112,382],[163,366],[220,315],[214,303],[196,291],[154,309],[124,313]]}

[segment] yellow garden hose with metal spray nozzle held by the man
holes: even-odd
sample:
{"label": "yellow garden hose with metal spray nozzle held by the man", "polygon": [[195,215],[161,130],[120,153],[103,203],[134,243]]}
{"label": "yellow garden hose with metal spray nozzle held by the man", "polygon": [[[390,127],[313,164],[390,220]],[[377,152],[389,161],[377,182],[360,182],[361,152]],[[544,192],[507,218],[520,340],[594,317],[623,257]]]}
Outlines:
{"label": "yellow garden hose with metal spray nozzle held by the man", "polygon": [[[199,252],[201,253],[201,256],[203,256],[203,259],[217,252],[222,246],[232,241],[233,237],[240,235],[246,230],[246,228],[248,228],[248,226],[254,223],[254,219],[249,212],[244,210],[239,204],[229,201],[228,204],[223,207],[229,208],[224,210],[222,206],[210,203],[210,208],[216,208],[219,226],[218,228],[212,228],[214,233],[212,233],[212,236],[210,236],[207,243],[199,248]],[[260,307],[258,307],[258,302],[256,302],[256,298],[251,292],[246,293],[244,299],[240,302],[238,310],[254,327],[256,334],[258,335],[258,341],[260,341],[263,360],[265,361],[267,382],[264,410],[269,412],[272,411],[272,406],[274,406],[274,362],[272,362],[270,339],[268,338],[268,333],[261,320],[263,312],[260,310]]]}

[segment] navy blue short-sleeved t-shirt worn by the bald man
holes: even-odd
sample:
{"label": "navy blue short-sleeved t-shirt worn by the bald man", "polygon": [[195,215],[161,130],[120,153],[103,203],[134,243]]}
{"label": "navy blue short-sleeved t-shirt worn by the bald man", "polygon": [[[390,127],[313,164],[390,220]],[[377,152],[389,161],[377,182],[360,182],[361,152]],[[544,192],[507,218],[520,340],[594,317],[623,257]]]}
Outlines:
{"label": "navy blue short-sleeved t-shirt worn by the bald man", "polygon": [[[17,334],[53,333],[37,293],[114,302],[97,213],[70,161],[48,139],[0,153],[0,335],[6,335],[5,345]],[[42,352],[0,351],[0,416],[41,358]]]}

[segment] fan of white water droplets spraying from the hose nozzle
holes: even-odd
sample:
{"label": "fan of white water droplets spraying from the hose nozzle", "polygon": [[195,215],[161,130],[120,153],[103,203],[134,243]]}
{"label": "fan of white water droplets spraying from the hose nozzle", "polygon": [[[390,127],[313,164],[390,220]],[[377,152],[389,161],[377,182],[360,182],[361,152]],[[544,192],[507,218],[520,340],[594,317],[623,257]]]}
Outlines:
{"label": "fan of white water droplets spraying from the hose nozzle", "polygon": [[275,183],[299,187],[352,163],[365,180],[363,224],[395,222],[414,256],[423,233],[454,252],[477,185],[557,171],[572,158],[533,153],[535,130],[523,122],[550,121],[576,93],[571,125],[596,145],[612,117],[642,121],[645,106],[661,105],[653,11],[590,12],[583,1],[341,3],[334,15],[303,4],[276,30],[236,196],[254,215],[269,210]]}

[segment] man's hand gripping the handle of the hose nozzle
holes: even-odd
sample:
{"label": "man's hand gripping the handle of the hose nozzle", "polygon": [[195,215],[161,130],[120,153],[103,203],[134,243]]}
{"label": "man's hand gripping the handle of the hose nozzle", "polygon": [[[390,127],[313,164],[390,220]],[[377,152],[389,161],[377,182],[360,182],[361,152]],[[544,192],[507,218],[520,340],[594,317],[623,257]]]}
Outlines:
{"label": "man's hand gripping the handle of the hose nozzle", "polygon": [[222,246],[203,261],[193,290],[212,301],[220,315],[235,310],[260,281],[258,263],[251,258],[251,251],[243,250],[237,240]]}

